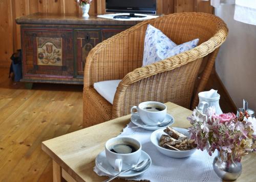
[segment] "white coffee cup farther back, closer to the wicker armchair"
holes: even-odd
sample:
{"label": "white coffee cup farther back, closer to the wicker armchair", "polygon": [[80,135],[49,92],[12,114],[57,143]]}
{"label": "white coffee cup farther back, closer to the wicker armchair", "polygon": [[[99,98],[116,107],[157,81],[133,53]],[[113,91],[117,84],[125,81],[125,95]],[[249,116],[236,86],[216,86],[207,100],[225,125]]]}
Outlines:
{"label": "white coffee cup farther back, closer to the wicker armchair", "polygon": [[[159,110],[151,111],[150,107],[159,107]],[[134,112],[136,109],[138,112]],[[163,122],[164,118],[167,114],[167,107],[161,103],[156,101],[146,101],[141,102],[139,106],[133,106],[131,109],[132,114],[139,113],[140,119],[145,124],[157,124]]]}

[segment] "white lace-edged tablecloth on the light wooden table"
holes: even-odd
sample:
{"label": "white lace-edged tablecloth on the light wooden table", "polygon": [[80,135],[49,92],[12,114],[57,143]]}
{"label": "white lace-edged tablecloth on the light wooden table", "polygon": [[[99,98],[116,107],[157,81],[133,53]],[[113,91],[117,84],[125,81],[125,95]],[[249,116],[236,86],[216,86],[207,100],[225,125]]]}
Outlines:
{"label": "white lace-edged tablecloth on the light wooden table", "polygon": [[[129,126],[135,126],[129,123]],[[151,167],[142,175],[128,180],[149,180],[151,182],[190,182],[190,181],[222,181],[212,169],[212,162],[217,152],[210,157],[207,151],[197,150],[189,158],[174,159],[160,153],[150,141],[152,131],[142,128],[125,127],[119,136],[132,137],[140,141],[144,150],[152,159]],[[97,167],[94,171],[106,175]]]}

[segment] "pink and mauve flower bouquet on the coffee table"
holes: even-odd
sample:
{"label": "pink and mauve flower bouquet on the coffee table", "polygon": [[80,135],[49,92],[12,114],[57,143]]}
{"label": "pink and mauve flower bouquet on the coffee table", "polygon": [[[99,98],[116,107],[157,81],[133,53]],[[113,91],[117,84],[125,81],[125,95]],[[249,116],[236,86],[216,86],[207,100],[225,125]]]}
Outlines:
{"label": "pink and mauve flower bouquet on the coffee table", "polygon": [[187,119],[192,125],[188,130],[197,149],[207,149],[209,155],[217,149],[222,161],[228,164],[240,162],[243,155],[256,148],[256,143],[252,143],[256,136],[251,118],[239,121],[233,113],[217,115],[214,108],[208,108],[205,114],[195,109]]}

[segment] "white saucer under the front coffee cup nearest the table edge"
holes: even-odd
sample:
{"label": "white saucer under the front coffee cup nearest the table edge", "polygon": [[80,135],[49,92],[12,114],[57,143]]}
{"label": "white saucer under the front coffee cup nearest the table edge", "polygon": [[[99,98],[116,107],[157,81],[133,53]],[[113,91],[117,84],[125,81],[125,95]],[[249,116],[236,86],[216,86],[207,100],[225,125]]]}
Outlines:
{"label": "white saucer under the front coffee cup nearest the table edge", "polygon": [[[140,160],[138,163],[140,163],[141,161],[143,160],[146,160],[146,159],[150,159],[150,164],[148,164],[144,170],[142,171],[127,171],[127,172],[124,172],[122,173],[119,177],[133,177],[133,176],[138,176],[144,172],[147,171],[147,169],[151,166],[152,164],[152,160],[150,158],[150,155],[148,155],[146,152],[144,151],[141,151],[141,156],[140,156]],[[105,154],[105,150],[100,152],[96,159],[95,159],[95,164],[97,166],[97,168],[101,171],[101,172],[104,172],[105,174],[108,174],[108,175],[111,175],[111,176],[114,176],[116,175],[118,172],[114,170],[114,168],[109,164],[108,161],[106,161],[106,154]]]}

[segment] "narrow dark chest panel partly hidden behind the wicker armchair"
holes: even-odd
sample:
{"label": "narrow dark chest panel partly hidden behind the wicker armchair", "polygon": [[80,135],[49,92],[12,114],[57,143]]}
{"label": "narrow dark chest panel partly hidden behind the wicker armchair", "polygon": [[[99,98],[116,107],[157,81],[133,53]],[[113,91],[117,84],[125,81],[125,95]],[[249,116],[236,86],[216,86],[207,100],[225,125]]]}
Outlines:
{"label": "narrow dark chest panel partly hidden behind the wicker armchair", "polygon": [[77,75],[83,76],[84,64],[90,50],[101,42],[100,30],[77,30],[76,37],[76,57],[77,57]]}

